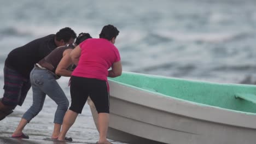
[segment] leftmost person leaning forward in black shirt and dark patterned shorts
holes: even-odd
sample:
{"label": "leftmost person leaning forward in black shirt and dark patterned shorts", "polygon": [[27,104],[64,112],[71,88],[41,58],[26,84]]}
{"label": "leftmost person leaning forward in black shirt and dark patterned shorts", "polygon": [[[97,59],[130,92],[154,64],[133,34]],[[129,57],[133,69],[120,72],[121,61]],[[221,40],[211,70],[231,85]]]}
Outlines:
{"label": "leftmost person leaning forward in black shirt and dark patterned shorts", "polygon": [[0,99],[0,121],[22,105],[31,87],[30,72],[40,59],[56,47],[74,43],[77,34],[69,28],[60,29],[12,50],[4,63],[4,94]]}

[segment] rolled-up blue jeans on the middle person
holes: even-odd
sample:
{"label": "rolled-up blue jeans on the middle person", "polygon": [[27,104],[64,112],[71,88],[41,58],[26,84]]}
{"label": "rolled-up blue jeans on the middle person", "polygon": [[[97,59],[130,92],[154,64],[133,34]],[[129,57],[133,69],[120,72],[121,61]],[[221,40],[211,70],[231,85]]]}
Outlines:
{"label": "rolled-up blue jeans on the middle person", "polygon": [[55,80],[54,74],[49,70],[34,67],[30,73],[30,80],[33,90],[33,104],[22,118],[30,122],[42,110],[47,94],[58,105],[54,123],[62,124],[69,103],[65,93]]}

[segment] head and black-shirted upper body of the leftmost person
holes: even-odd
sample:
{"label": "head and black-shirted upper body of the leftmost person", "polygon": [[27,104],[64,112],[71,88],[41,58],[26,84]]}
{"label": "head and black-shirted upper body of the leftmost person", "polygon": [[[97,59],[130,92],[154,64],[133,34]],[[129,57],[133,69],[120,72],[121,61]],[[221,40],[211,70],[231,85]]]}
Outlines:
{"label": "head and black-shirted upper body of the leftmost person", "polygon": [[34,64],[47,56],[56,47],[72,44],[76,37],[71,28],[62,28],[56,34],[33,40],[12,50],[5,60],[5,66],[16,70],[26,79],[29,79],[30,71],[33,69]]}

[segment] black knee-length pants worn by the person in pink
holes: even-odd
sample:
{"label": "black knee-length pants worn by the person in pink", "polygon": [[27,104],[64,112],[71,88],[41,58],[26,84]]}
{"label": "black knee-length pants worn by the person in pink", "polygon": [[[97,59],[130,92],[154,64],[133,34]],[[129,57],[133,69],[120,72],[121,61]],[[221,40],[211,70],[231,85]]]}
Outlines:
{"label": "black knee-length pants worn by the person in pink", "polygon": [[82,113],[90,95],[98,113],[109,113],[109,92],[107,81],[71,76],[71,106],[69,110]]}

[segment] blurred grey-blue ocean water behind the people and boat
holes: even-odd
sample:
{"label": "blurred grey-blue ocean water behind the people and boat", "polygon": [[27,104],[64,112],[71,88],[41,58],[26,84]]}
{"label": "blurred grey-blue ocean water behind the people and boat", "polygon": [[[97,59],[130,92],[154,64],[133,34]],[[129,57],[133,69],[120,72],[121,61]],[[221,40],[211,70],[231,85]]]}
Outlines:
{"label": "blurred grey-blue ocean water behind the people and boat", "polygon": [[[256,84],[256,1],[0,1],[0,87],[8,53],[29,41],[71,27],[94,38],[104,25],[120,33],[116,46],[123,70],[183,79]],[[70,100],[68,78],[58,80]],[[3,89],[0,89],[3,94]],[[32,104],[0,122],[0,134],[10,135]],[[44,108],[25,128],[33,136],[50,136],[56,104]],[[89,106],[69,130],[78,141],[96,142],[98,133]],[[114,142],[121,143],[121,142]]]}

